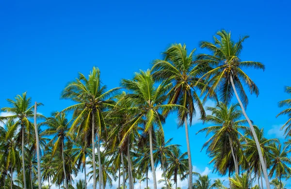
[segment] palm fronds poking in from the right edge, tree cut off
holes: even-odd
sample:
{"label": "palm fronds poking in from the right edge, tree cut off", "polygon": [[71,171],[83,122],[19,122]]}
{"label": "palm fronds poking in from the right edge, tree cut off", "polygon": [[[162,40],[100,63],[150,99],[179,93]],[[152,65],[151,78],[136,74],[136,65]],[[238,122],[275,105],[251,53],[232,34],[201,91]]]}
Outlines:
{"label": "palm fronds poking in from the right edge, tree cut off", "polygon": [[[291,87],[286,86],[285,92],[288,94],[291,94]],[[286,115],[286,114],[289,116],[287,122],[281,127],[281,129],[285,128],[284,135],[286,135],[287,137],[288,135],[291,135],[291,99],[286,99],[279,102],[279,107],[284,107],[284,106],[287,106],[288,108],[281,111],[276,117],[280,115]]]}

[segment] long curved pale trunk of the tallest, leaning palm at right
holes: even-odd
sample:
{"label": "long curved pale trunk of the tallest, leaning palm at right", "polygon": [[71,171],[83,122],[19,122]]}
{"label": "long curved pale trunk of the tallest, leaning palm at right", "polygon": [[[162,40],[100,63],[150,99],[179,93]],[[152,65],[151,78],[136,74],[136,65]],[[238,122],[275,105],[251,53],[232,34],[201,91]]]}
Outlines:
{"label": "long curved pale trunk of the tallest, leaning palm at right", "polygon": [[260,163],[262,165],[262,171],[264,173],[264,177],[265,177],[265,181],[266,181],[266,187],[267,187],[267,189],[271,189],[270,188],[269,178],[268,178],[268,173],[267,173],[267,167],[266,167],[265,162],[264,162],[264,157],[262,155],[262,151],[261,151],[261,148],[260,148],[260,145],[259,145],[259,140],[258,140],[256,131],[254,129],[254,126],[253,126],[251,120],[248,118],[248,116],[247,116],[247,114],[246,114],[246,112],[245,112],[245,110],[243,108],[242,101],[241,101],[241,99],[240,99],[240,97],[239,97],[239,95],[238,95],[238,93],[237,93],[237,91],[235,89],[234,83],[233,83],[232,74],[230,74],[230,82],[231,82],[231,86],[233,88],[234,94],[235,94],[236,98],[238,99],[239,104],[241,106],[242,114],[244,115],[245,119],[247,120],[247,122],[248,122],[248,124],[249,124],[249,126],[251,128],[251,131],[253,133],[253,136],[254,136],[254,139],[255,139],[255,142],[256,142],[256,146],[257,146],[257,149],[258,149],[258,153],[259,153],[259,160],[260,160]]}

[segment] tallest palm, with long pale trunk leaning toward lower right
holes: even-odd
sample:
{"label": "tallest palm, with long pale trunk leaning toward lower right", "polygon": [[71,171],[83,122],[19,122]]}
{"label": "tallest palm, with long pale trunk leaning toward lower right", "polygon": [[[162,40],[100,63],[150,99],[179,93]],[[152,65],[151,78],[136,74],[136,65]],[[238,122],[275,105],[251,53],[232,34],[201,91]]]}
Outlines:
{"label": "tallest palm, with long pale trunk leaning toward lower right", "polygon": [[[253,61],[241,61],[240,54],[242,51],[242,43],[248,36],[243,36],[234,42],[231,38],[230,32],[218,31],[216,33],[220,39],[214,36],[214,43],[207,41],[201,42],[202,48],[207,48],[211,51],[210,54],[200,54],[197,56],[197,63],[204,65],[209,69],[201,79],[207,81],[206,86],[210,87],[208,89],[209,93],[218,92],[220,98],[225,103],[230,103],[233,94],[235,94],[244,117],[246,118],[251,131],[254,135],[254,139],[259,152],[259,159],[262,166],[262,171],[266,180],[267,189],[270,189],[270,183],[267,173],[267,168],[262,156],[262,152],[259,148],[258,137],[251,120],[248,118],[245,107],[248,104],[247,95],[243,89],[243,84],[247,86],[250,94],[259,95],[259,89],[257,85],[250,79],[248,75],[244,73],[242,68],[253,68],[253,69],[265,69],[264,64]],[[199,83],[197,83],[199,84]],[[202,90],[205,92],[207,87]]]}

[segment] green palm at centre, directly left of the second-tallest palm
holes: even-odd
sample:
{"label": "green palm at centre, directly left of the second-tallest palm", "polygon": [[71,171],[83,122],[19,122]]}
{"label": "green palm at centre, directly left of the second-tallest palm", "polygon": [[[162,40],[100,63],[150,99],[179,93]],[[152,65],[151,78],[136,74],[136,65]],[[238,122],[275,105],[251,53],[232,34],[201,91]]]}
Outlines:
{"label": "green palm at centre, directly left of the second-tallest palm", "polygon": [[154,189],[157,189],[152,139],[154,126],[162,127],[162,124],[165,122],[165,117],[161,114],[162,110],[177,109],[178,105],[162,104],[166,100],[164,94],[168,90],[170,84],[163,81],[156,87],[149,70],[135,73],[133,80],[123,79],[121,84],[124,88],[130,91],[131,94],[128,94],[128,98],[134,102],[134,107],[126,108],[124,112],[126,113],[130,110],[138,111],[136,117],[129,120],[130,127],[123,136],[121,143],[125,141],[132,129],[136,128],[137,125],[142,124],[143,131],[148,133],[149,136],[153,184]]}

